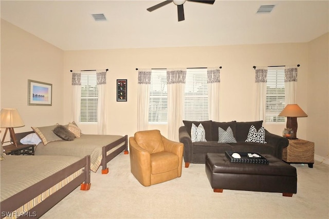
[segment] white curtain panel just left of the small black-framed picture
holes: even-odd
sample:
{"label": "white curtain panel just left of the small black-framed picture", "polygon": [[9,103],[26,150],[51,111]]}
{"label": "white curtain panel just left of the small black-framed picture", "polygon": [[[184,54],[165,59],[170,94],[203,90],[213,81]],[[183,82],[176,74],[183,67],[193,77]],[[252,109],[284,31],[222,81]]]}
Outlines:
{"label": "white curtain panel just left of the small black-framed picture", "polygon": [[106,134],[106,70],[96,70],[98,87],[97,130]]}

